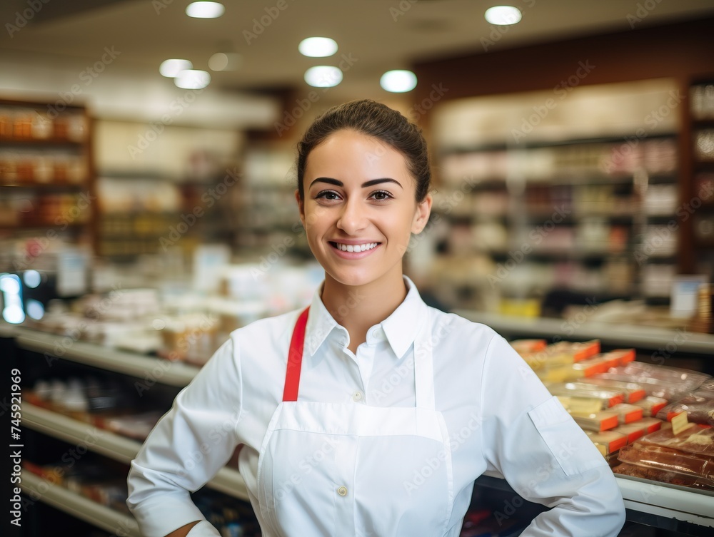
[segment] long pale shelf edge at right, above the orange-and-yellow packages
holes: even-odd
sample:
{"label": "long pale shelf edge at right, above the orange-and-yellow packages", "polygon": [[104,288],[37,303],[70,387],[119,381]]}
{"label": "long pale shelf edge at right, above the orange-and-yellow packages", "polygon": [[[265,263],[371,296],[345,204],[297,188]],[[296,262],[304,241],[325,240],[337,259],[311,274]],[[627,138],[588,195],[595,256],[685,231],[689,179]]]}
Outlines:
{"label": "long pale shelf edge at right, above the orange-and-yellow packages", "polygon": [[[545,339],[554,336],[563,337],[564,319],[509,317],[472,310],[456,310],[455,313],[471,321],[486,324],[504,336],[518,334],[518,337]],[[686,337],[682,337],[682,334],[683,331],[614,322],[588,321],[580,326],[568,324],[568,339],[583,341],[600,339],[600,342],[606,346],[651,350],[663,349],[676,341],[678,353],[714,355],[714,335],[686,332]]]}

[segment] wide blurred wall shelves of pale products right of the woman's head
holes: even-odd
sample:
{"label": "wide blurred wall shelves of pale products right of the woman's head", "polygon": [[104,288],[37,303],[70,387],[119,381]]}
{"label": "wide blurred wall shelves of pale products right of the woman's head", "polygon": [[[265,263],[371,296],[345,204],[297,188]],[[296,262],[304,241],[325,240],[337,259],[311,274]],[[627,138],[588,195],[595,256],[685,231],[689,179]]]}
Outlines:
{"label": "wide blurred wall shelves of pale products right of the woman's head", "polygon": [[451,230],[444,265],[481,257],[489,270],[472,276],[475,293],[659,297],[668,286],[657,267],[671,278],[676,265],[676,238],[662,245],[658,232],[675,218],[676,135],[650,136],[628,160],[618,158],[625,149],[613,136],[442,150],[434,212]]}

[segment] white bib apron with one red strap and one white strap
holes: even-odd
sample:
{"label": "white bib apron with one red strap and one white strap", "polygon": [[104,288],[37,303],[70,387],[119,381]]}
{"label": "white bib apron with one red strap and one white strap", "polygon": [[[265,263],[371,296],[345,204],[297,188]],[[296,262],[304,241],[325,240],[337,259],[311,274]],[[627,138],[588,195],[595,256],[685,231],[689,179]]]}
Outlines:
{"label": "white bib apron with one red strap and one white strap", "polygon": [[307,316],[293,330],[283,402],[258,459],[263,537],[443,536],[453,474],[429,319],[414,343],[416,407],[382,408],[298,400]]}

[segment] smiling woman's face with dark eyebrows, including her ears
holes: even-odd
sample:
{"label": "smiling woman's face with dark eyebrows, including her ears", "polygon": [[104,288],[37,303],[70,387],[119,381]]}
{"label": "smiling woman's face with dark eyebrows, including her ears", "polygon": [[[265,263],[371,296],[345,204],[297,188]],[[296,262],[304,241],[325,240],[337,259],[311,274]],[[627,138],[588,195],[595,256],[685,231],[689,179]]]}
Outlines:
{"label": "smiling woman's face with dark eyebrows, including her ears", "polygon": [[423,230],[431,196],[416,202],[403,155],[354,131],[331,134],[308,155],[298,205],[308,244],[326,277],[365,285],[398,275],[412,233]]}

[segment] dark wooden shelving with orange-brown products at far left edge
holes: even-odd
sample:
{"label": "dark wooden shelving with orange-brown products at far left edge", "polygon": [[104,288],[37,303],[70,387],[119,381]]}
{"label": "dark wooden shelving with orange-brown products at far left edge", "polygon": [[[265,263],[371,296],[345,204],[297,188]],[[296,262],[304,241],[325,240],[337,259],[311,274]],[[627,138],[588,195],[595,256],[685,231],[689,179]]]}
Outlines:
{"label": "dark wooden shelving with orange-brown products at far left edge", "polygon": [[91,140],[83,106],[0,99],[0,235],[93,245]]}

